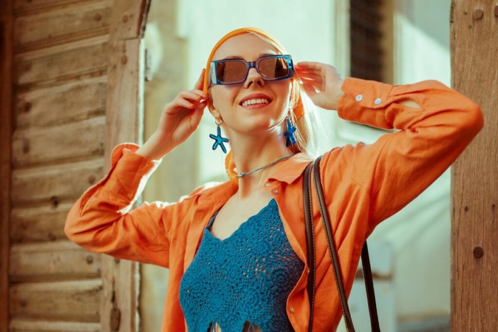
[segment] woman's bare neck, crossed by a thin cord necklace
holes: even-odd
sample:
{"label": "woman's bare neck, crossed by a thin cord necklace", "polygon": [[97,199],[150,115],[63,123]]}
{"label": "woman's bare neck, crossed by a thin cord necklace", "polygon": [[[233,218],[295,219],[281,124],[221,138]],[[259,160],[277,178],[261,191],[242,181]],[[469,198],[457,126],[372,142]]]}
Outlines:
{"label": "woman's bare neck, crossed by a thin cord necklace", "polygon": [[[278,158],[292,154],[285,146],[283,132],[264,132],[245,136],[239,133],[230,135],[235,165],[239,173],[268,165]],[[245,199],[260,189],[278,164],[261,169],[246,177],[239,178],[239,199]]]}

